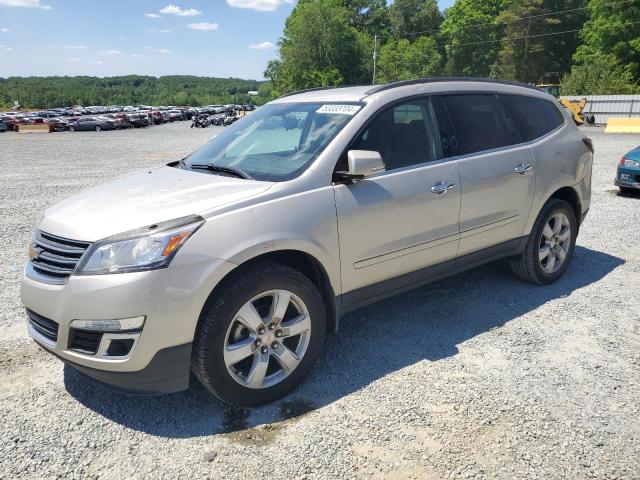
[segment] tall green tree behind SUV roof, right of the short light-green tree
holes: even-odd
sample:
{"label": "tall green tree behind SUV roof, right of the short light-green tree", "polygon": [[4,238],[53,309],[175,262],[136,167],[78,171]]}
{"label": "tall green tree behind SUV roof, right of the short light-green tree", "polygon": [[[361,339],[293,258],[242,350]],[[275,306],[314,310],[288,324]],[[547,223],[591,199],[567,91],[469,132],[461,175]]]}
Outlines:
{"label": "tall green tree behind SUV roof, right of the short light-green tree", "polygon": [[499,21],[505,0],[457,0],[445,11],[441,35],[448,75],[489,77],[498,60],[504,25]]}

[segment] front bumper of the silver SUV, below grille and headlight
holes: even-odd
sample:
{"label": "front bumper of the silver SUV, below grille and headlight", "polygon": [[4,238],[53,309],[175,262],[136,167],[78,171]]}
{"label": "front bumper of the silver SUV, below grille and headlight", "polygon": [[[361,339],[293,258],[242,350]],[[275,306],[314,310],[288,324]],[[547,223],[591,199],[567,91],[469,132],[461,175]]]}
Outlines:
{"label": "front bumper of the silver SUV, below grille and headlight", "polygon": [[[49,326],[55,326],[57,332],[45,338],[41,333],[46,333],[47,324],[38,331],[31,319],[28,330],[47,351],[120,390],[151,394],[184,389],[188,387],[191,342],[202,306],[233,267],[220,259],[200,259],[148,272],[72,275],[64,284],[53,285],[29,278],[27,265],[21,283],[22,303],[31,316],[35,313],[42,322],[50,321]],[[146,320],[142,330],[132,334],[135,342],[126,355],[105,355],[102,347],[95,354],[73,348],[73,320],[138,316]]]}

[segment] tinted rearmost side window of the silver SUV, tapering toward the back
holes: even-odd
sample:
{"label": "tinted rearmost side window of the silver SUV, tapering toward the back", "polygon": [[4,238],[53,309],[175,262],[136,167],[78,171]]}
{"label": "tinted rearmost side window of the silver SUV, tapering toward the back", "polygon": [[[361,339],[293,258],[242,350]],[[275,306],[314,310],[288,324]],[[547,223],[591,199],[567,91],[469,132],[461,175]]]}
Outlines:
{"label": "tinted rearmost side window of the silver SUV, tapering toward the back", "polygon": [[554,130],[564,122],[560,110],[541,98],[500,95],[520,141],[528,142]]}

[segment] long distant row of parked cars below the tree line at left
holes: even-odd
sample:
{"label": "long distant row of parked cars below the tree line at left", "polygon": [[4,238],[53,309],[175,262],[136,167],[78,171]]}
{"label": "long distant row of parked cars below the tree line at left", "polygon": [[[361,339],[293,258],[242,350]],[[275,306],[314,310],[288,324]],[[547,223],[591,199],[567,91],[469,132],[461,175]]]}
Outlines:
{"label": "long distant row of parked cars below the tree line at left", "polygon": [[[21,125],[49,126],[49,132],[102,131],[142,128],[167,122],[191,120],[202,115],[232,116],[253,110],[253,105],[208,105],[206,107],[70,107],[40,112],[0,113],[0,132],[19,131]],[[241,113],[240,113],[241,112]],[[231,122],[229,122],[231,123]]]}

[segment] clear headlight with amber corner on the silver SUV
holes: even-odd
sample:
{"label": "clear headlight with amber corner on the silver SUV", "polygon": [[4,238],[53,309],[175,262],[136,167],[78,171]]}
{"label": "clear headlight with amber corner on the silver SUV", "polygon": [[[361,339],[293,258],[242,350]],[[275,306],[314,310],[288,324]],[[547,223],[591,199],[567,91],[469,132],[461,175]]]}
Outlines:
{"label": "clear headlight with amber corner on the silver SUV", "polygon": [[167,267],[178,249],[203,223],[202,217],[190,216],[100,240],[85,253],[76,275]]}

